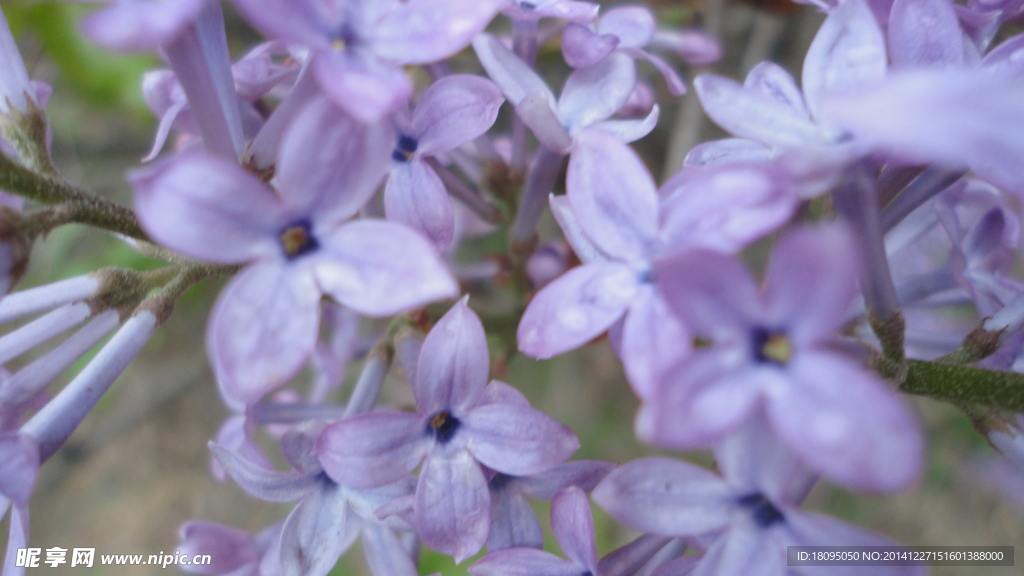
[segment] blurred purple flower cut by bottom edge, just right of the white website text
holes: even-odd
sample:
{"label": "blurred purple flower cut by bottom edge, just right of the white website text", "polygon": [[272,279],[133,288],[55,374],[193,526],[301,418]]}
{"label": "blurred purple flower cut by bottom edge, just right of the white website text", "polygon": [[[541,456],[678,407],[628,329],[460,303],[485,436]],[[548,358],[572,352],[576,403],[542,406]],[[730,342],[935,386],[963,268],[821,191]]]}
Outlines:
{"label": "blurred purple flower cut by bottom edge, just right of the white website text", "polygon": [[282,524],[251,536],[248,532],[206,521],[181,525],[177,551],[193,558],[209,554],[208,565],[189,564],[181,570],[193,574],[223,576],[275,576],[281,574],[279,544]]}

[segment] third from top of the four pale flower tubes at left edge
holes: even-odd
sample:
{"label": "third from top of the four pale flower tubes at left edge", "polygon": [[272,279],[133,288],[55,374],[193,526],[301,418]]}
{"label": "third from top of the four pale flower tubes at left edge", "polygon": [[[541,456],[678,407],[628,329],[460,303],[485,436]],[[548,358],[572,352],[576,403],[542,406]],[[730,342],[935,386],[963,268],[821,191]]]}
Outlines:
{"label": "third from top of the four pale flower tubes at left edge", "polygon": [[0,404],[17,405],[29,401],[120,323],[121,315],[117,311],[109,310],[97,315],[58,346],[0,384]]}

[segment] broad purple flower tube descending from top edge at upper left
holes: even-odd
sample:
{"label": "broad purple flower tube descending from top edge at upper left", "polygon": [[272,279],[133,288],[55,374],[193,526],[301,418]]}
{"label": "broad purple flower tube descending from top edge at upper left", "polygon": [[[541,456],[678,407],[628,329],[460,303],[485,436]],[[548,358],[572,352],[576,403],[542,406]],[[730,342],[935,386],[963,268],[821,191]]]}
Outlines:
{"label": "broad purple flower tube descending from top edge at upper left", "polygon": [[208,2],[199,19],[165,52],[188,96],[188,108],[207,151],[237,161],[245,148],[245,137],[220,3]]}

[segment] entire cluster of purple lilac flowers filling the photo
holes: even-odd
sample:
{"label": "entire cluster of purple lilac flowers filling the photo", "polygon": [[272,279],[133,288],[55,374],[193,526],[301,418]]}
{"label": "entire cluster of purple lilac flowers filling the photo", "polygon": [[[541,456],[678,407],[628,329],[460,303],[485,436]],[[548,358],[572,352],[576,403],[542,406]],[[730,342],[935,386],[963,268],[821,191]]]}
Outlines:
{"label": "entire cluster of purple lilac flowers filling the photo", "polygon": [[[88,37],[168,66],[142,82],[159,126],[128,175],[134,208],[59,175],[48,87],[0,14],[0,292],[71,222],[166,266],[0,300],[2,322],[40,315],[0,336],[0,363],[18,366],[0,373],[4,576],[24,571],[11,550],[41,463],[215,276],[230,280],[206,346],[230,416],[211,472],[296,504],[256,535],[182,526],[181,549],[214,559],[204,574],[324,576],[356,539],[377,576],[417,574],[421,544],[456,563],[485,548],[473,576],[811,574],[786,546],[889,543],[799,506],[822,479],[918,482],[924,433],[901,392],[954,404],[1024,467],[1024,36],[991,46],[1020,2],[813,2],[826,16],[801,85],[770,61],[742,83],[697,76],[732,137],[694,147],[660,187],[630,143],[656,127],[663,85],[686,91],[673,60],[707,66],[722,47],[646,7],[233,0],[266,42],[232,63],[219,2],[102,4]],[[555,44],[557,97],[538,64]],[[481,253],[487,235],[507,250]],[[760,280],[743,263],[755,244],[771,246]],[[580,439],[492,379],[515,354],[604,335],[640,401],[637,438],[712,450],[716,471],[570,461]],[[395,359],[415,410],[382,394]],[[564,558],[542,549],[527,497],[551,501]],[[641,535],[600,556],[591,498]]]}

